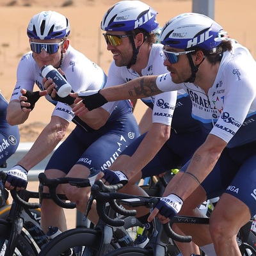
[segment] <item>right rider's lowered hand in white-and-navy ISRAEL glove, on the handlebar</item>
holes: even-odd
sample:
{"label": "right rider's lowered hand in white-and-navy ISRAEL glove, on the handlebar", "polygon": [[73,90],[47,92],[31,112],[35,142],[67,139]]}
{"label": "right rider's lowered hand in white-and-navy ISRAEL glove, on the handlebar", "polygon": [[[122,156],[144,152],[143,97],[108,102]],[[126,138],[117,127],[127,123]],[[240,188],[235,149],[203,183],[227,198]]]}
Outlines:
{"label": "right rider's lowered hand in white-and-navy ISRAEL glove, on the handlebar", "polygon": [[180,211],[183,204],[183,200],[174,194],[162,197],[160,202],[156,205],[156,208],[151,212],[148,217],[148,221],[152,221],[155,216],[159,220],[166,223],[172,220],[172,218]]}

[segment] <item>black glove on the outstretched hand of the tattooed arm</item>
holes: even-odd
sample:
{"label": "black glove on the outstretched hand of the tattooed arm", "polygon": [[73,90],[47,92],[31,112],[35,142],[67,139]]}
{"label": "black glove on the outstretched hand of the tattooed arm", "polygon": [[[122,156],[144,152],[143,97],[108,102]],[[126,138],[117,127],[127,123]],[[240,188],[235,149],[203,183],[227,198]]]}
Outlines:
{"label": "black glove on the outstretched hand of the tattooed arm", "polygon": [[96,90],[79,92],[78,97],[83,99],[83,104],[90,111],[99,108],[108,102],[108,100],[100,94],[100,90],[98,92]]}

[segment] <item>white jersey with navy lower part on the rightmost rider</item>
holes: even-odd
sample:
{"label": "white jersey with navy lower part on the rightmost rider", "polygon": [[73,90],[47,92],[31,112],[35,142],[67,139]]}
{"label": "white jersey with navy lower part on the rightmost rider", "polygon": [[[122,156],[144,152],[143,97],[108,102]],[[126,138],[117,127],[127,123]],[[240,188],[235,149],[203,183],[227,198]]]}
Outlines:
{"label": "white jersey with navy lower part on the rightmost rider", "polygon": [[248,49],[236,43],[232,47],[224,52],[207,95],[193,83],[173,83],[170,73],[157,77],[157,87],[163,92],[186,90],[193,117],[230,148],[256,141],[256,63]]}

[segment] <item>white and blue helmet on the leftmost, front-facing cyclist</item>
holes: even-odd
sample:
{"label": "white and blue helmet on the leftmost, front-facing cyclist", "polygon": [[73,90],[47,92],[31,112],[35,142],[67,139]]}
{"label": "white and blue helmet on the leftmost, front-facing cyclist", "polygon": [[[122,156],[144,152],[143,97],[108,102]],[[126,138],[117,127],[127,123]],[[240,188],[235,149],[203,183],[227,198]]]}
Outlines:
{"label": "white and blue helmet on the leftmost, front-facing cyclist", "polygon": [[29,38],[64,38],[70,33],[68,19],[58,12],[40,12],[32,17],[27,28]]}

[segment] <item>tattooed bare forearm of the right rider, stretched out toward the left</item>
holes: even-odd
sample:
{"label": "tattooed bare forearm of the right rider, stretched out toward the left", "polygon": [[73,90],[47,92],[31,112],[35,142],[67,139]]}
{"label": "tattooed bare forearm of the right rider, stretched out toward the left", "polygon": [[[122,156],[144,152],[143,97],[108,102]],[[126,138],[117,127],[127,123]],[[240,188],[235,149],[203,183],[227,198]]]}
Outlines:
{"label": "tattooed bare forearm of the right rider, stretched out toward the left", "polygon": [[140,99],[162,93],[156,86],[157,76],[144,76],[125,84],[111,86],[100,90],[108,101]]}

